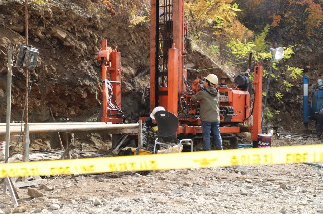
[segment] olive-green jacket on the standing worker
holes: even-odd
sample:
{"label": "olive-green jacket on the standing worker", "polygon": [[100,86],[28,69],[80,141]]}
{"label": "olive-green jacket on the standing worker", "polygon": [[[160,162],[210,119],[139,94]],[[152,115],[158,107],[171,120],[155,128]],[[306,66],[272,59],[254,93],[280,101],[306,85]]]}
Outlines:
{"label": "olive-green jacket on the standing worker", "polygon": [[219,98],[218,89],[212,86],[204,88],[204,90],[192,96],[191,101],[201,101],[201,121],[220,122]]}

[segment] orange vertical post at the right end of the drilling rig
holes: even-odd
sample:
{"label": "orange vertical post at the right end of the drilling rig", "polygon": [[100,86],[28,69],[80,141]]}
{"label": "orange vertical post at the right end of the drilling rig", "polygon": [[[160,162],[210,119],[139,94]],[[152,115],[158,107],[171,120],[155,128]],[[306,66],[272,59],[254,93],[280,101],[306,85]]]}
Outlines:
{"label": "orange vertical post at the right end of the drilling rig", "polygon": [[253,126],[251,130],[251,137],[253,141],[258,140],[258,134],[261,133],[261,115],[262,115],[262,66],[257,62],[254,67],[254,109],[253,109]]}

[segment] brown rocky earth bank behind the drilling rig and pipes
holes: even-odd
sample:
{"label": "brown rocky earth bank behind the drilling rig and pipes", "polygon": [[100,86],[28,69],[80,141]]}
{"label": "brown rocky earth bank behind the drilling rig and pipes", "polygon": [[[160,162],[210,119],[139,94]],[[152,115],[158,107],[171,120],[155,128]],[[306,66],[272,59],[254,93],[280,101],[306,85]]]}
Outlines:
{"label": "brown rocky earth bank behind the drilling rig and pipes", "polygon": [[[6,53],[7,46],[17,45],[19,49],[20,44],[26,44],[25,5],[24,1],[4,0],[0,0],[0,4],[0,50]],[[129,23],[120,16],[90,16],[70,1],[46,1],[45,5],[28,2],[28,45],[39,48],[36,69],[30,72],[29,77],[29,122],[52,122],[50,108],[57,122],[66,119],[73,122],[100,121],[101,68],[94,57],[101,48],[102,39],[107,39],[108,46],[116,46],[121,52],[121,109],[130,114],[128,122],[138,116],[145,110],[142,95],[150,80],[149,38],[150,29],[147,24],[129,27]],[[187,50],[188,67],[199,69],[217,66],[190,40],[187,42]],[[4,54],[0,56],[0,122],[4,123],[7,57]],[[222,84],[231,84],[233,74],[220,68],[215,72]],[[26,72],[13,67],[12,73],[11,120],[21,121]],[[192,78],[189,77],[189,80],[196,76],[204,77],[207,73],[193,72],[190,75]],[[55,136],[41,136],[40,140],[50,141]],[[100,139],[101,136],[97,135],[78,138],[95,143]]]}

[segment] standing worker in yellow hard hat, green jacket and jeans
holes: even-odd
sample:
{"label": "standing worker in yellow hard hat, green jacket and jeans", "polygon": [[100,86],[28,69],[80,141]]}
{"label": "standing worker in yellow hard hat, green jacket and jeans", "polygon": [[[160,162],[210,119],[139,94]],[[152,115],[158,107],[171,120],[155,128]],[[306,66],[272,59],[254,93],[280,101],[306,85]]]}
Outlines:
{"label": "standing worker in yellow hard hat, green jacket and jeans", "polygon": [[203,134],[203,150],[210,150],[212,133],[216,150],[222,150],[222,140],[220,136],[220,111],[219,98],[220,94],[214,85],[218,84],[218,77],[214,74],[209,74],[205,78],[203,87],[193,95],[191,101],[201,101],[200,120],[202,122]]}

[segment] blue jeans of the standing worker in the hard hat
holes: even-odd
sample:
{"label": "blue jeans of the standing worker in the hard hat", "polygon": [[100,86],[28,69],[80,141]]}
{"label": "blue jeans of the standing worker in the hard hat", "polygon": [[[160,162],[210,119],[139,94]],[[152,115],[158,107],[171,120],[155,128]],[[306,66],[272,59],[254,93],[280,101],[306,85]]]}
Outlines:
{"label": "blue jeans of the standing worker in the hard hat", "polygon": [[202,133],[203,133],[203,150],[210,150],[211,147],[211,135],[214,139],[214,145],[216,150],[222,150],[222,140],[220,136],[220,122],[205,122],[202,121]]}

